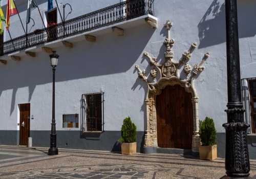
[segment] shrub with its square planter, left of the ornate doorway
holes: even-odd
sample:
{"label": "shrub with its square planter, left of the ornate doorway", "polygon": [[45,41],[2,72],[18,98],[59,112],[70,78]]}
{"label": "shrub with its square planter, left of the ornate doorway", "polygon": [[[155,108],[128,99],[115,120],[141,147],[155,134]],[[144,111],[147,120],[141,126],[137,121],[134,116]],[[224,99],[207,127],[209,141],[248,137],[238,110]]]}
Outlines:
{"label": "shrub with its square planter, left of the ornate doorway", "polygon": [[125,118],[121,128],[121,138],[118,142],[121,143],[122,154],[134,154],[136,153],[136,125],[132,122],[131,118]]}

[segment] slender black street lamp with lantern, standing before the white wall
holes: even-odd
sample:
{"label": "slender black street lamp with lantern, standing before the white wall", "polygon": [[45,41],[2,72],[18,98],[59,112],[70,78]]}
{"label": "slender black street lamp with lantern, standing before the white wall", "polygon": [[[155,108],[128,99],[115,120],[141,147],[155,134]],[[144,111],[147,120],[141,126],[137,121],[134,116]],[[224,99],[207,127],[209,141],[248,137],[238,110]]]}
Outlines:
{"label": "slender black street lamp with lantern, standing before the white wall", "polygon": [[55,123],[55,67],[57,66],[59,55],[56,54],[55,52],[56,51],[53,51],[53,53],[49,55],[51,59],[53,80],[52,80],[52,128],[51,128],[51,143],[50,143],[50,148],[48,150],[48,155],[58,154],[58,148],[56,148],[57,135],[56,135],[56,123]]}

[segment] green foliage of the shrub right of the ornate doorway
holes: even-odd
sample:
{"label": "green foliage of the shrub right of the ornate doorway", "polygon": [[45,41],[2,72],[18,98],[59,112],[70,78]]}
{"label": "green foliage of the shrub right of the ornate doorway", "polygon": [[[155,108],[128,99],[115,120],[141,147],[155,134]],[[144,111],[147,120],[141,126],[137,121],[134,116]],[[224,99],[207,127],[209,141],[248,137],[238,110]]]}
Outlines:
{"label": "green foliage of the shrub right of the ornate doorway", "polygon": [[213,119],[206,117],[204,121],[199,120],[198,133],[203,146],[216,145],[216,129]]}

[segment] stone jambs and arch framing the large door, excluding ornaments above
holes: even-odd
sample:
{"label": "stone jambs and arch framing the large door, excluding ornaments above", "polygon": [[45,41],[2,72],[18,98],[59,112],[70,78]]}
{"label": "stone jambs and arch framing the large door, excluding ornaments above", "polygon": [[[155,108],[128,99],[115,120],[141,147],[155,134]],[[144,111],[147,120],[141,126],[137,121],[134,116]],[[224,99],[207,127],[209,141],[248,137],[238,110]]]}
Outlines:
{"label": "stone jambs and arch framing the large door, excluding ornaments above", "polygon": [[[171,77],[169,80],[160,79],[158,83],[148,87],[146,94],[146,133],[145,133],[145,142],[144,147],[158,147],[157,142],[157,112],[156,112],[156,97],[161,94],[162,89],[165,86],[170,85],[174,86],[176,84],[181,85],[185,88],[187,93],[192,94],[192,104],[193,104],[193,137],[192,137],[192,152],[199,152],[200,138],[199,138],[199,114],[198,114],[198,102],[199,98],[194,86],[194,81],[183,81],[177,80],[175,77]],[[153,90],[152,90],[153,89]]]}

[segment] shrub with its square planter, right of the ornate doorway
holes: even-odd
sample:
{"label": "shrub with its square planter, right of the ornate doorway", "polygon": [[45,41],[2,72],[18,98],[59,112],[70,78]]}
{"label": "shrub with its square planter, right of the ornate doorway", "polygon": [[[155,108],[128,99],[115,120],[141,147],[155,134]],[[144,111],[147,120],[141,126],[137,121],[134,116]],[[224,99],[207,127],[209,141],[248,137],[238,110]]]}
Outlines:
{"label": "shrub with its square planter, right of the ornate doorway", "polygon": [[202,145],[199,146],[201,160],[217,159],[217,137],[214,120],[206,117],[204,121],[199,120],[199,137]]}

